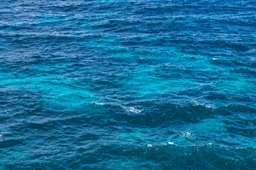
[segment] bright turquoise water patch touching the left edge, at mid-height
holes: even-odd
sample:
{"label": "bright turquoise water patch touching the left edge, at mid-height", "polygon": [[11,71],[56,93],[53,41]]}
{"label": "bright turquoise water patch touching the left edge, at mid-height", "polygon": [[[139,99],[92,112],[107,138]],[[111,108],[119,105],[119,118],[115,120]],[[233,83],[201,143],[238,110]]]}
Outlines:
{"label": "bright turquoise water patch touching the left edge, at mid-height", "polygon": [[[40,72],[40,71],[39,71]],[[57,74],[13,75],[1,73],[1,86],[15,89],[31,89],[43,96],[48,107],[79,107],[91,103],[95,96],[88,86],[78,84],[78,79],[60,78]]]}

